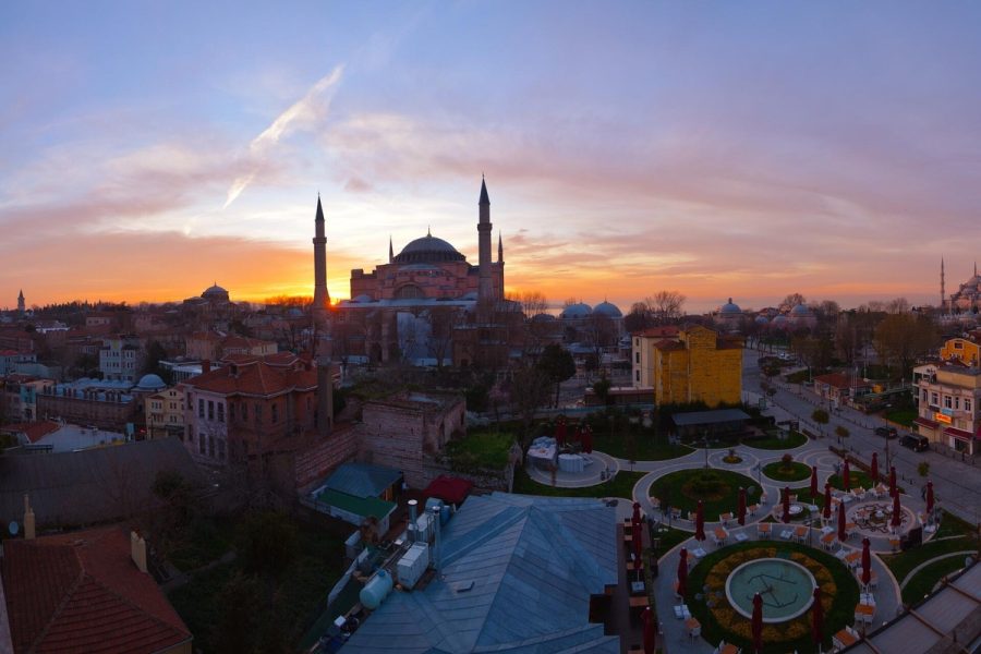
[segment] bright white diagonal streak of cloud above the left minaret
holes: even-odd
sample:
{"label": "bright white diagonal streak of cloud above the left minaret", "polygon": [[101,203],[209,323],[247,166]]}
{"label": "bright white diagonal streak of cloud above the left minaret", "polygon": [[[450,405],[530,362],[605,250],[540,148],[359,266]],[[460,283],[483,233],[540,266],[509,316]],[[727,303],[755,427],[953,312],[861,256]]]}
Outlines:
{"label": "bright white diagonal streak of cloud above the left minaret", "polygon": [[306,95],[276,117],[276,120],[262,134],[252,140],[252,143],[249,144],[249,156],[250,159],[255,161],[255,166],[246,173],[235,178],[235,181],[232,182],[228,190],[222,209],[227,209],[255,180],[262,168],[263,160],[279,143],[280,138],[293,131],[312,128],[327,118],[330,111],[330,102],[334,99],[334,94],[343,76],[343,64],[335,66],[329,74],[317,80],[317,83],[310,87]]}

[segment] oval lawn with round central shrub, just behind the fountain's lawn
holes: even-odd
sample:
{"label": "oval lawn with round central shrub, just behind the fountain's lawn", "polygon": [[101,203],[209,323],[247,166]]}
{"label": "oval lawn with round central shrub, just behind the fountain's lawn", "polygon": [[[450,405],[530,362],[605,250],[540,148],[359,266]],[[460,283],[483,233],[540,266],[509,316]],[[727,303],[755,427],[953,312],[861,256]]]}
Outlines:
{"label": "oval lawn with round central shrub, just behind the fountain's lawn", "polygon": [[661,500],[662,506],[670,505],[671,508],[685,511],[694,511],[699,499],[703,500],[705,521],[718,520],[718,514],[727,511],[736,512],[739,502],[739,487],[742,486],[752,493],[747,493],[747,504],[755,504],[760,498],[760,486],[754,480],[728,470],[679,470],[666,474],[655,481],[649,491]]}

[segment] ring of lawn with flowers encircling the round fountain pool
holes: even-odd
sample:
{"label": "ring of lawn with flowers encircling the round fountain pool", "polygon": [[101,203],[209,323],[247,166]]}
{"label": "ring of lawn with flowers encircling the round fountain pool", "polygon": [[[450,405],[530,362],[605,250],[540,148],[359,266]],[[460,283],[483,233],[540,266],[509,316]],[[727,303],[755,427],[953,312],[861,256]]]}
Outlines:
{"label": "ring of lawn with flowers encircling the round fountain pool", "polygon": [[[732,558],[727,561],[730,556]],[[686,601],[692,616],[702,623],[705,640],[717,643],[725,639],[726,642],[741,646],[743,652],[752,651],[750,619],[730,608],[724,595],[716,595],[716,605],[710,608],[702,593],[706,585],[710,593],[723,590],[728,572],[736,565],[753,558],[775,556],[788,557],[803,565],[821,585],[823,597],[827,601],[824,613],[825,651],[831,645],[831,634],[853,622],[855,605],[859,600],[858,582],[834,556],[795,543],[741,543],[708,554],[689,572]],[[674,580],[677,572],[670,572]],[[810,610],[794,620],[764,625],[763,652],[784,654],[795,649],[798,652],[813,652],[810,627]]]}

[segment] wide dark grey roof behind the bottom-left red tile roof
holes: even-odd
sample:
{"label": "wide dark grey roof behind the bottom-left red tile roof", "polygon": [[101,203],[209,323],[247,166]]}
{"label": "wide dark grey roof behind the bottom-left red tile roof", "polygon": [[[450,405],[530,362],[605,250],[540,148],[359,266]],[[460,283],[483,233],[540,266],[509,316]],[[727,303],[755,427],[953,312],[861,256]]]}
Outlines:
{"label": "wide dark grey roof behind the bottom-left red tile roof", "polygon": [[157,473],[175,471],[203,483],[178,438],[159,438],[81,452],[0,457],[0,520],[24,519],[24,494],[38,526],[90,524],[153,507]]}

